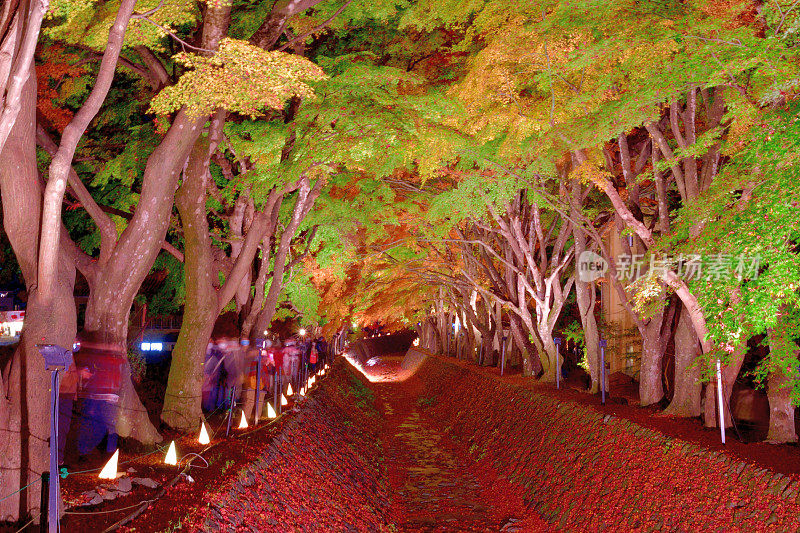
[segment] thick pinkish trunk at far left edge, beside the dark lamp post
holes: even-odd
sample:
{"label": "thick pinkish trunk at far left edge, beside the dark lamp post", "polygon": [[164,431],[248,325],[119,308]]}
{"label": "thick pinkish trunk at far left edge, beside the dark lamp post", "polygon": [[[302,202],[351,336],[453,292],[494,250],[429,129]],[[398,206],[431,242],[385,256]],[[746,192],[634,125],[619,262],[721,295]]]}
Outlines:
{"label": "thick pinkish trunk at far left edge, beside the dark lamp post", "polygon": [[[3,227],[14,249],[28,289],[25,326],[5,381],[0,379],[0,497],[34,482],[47,471],[50,436],[50,372],[35,345],[72,347],[76,313],[73,299],[75,267],[59,253],[49,305],[37,291],[37,252],[42,186],[36,168],[36,87],[29,78],[22,88],[14,128],[0,153],[0,193]],[[0,522],[31,514],[38,521],[40,485],[0,501]]]}

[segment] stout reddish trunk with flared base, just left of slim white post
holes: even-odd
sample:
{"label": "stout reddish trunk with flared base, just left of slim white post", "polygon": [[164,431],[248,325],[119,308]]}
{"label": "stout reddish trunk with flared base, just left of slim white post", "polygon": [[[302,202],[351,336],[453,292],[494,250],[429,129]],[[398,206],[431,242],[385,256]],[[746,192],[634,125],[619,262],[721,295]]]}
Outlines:
{"label": "stout reddish trunk with flared base, just left of slim white post", "polygon": [[682,417],[699,416],[702,384],[700,370],[692,363],[700,354],[700,342],[686,308],[681,307],[680,313],[675,330],[675,393],[664,413]]}

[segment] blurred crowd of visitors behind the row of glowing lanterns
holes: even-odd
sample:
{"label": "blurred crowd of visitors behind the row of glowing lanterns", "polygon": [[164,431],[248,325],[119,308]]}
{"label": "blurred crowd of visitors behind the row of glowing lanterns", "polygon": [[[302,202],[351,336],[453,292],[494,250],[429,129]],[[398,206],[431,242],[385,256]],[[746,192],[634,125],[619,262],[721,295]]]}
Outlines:
{"label": "blurred crowd of visitors behind the row of glowing lanterns", "polygon": [[[271,337],[251,345],[230,332],[215,334],[206,350],[202,407],[206,413],[221,411],[231,402],[245,407],[248,418],[270,401],[280,410],[281,394],[291,385],[299,391],[331,353],[323,338],[296,335]],[[73,347],[74,363],[63,374],[59,387],[58,458],[65,462],[67,434],[76,420],[75,446],[80,458],[103,445],[107,453],[117,448],[116,421],[127,354],[124,343],[108,342],[82,333]],[[260,368],[259,368],[260,362]],[[272,399],[270,399],[272,398]]]}

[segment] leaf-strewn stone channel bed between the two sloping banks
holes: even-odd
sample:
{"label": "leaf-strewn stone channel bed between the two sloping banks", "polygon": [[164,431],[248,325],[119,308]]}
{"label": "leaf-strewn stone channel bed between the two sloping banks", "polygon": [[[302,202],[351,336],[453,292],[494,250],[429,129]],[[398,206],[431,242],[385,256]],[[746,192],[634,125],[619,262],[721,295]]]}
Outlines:
{"label": "leaf-strewn stone channel bed between the two sloping banks", "polygon": [[[522,495],[482,469],[420,409],[407,382],[372,384],[384,417],[384,453],[401,531],[545,531]],[[521,521],[526,517],[524,522]]]}

